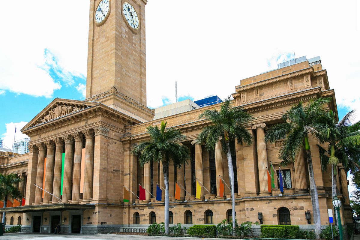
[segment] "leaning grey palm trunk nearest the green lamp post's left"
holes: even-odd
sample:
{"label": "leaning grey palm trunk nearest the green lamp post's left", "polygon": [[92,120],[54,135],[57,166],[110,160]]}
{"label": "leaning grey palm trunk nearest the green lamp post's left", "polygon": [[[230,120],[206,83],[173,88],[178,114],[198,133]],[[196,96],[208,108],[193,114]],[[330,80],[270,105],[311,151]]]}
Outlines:
{"label": "leaning grey palm trunk nearest the green lamp post's left", "polygon": [[307,164],[309,166],[309,178],[310,178],[310,196],[312,203],[312,214],[314,216],[315,224],[315,237],[320,239],[321,234],[321,221],[320,221],[320,209],[319,209],[319,198],[318,198],[318,189],[316,189],[315,179],[314,179],[314,168],[312,167],[312,158],[309,145],[309,139],[305,137],[305,150]]}

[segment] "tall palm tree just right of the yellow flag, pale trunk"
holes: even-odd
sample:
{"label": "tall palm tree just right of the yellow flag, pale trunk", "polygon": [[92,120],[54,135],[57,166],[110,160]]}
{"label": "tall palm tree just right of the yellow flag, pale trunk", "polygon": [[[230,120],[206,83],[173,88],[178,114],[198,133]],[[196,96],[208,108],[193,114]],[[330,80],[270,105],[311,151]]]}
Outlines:
{"label": "tall palm tree just right of the yellow flag, pale trunk", "polygon": [[[199,134],[198,141],[205,142],[207,150],[215,148],[220,137],[223,137],[222,148],[228,157],[228,168],[231,185],[231,205],[233,219],[235,219],[235,192],[234,192],[234,169],[231,158],[230,142],[237,140],[242,144],[252,143],[252,136],[245,128],[245,125],[254,120],[249,113],[242,108],[233,108],[230,97],[221,104],[220,111],[217,109],[205,110],[199,115],[199,119],[210,120],[211,125],[204,127]],[[235,236],[235,221],[233,220],[233,235]]]}

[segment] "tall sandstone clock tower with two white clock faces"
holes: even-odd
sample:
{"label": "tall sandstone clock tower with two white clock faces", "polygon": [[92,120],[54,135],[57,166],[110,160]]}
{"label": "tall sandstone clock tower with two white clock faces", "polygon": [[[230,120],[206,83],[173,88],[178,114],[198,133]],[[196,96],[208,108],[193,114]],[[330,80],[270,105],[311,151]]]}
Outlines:
{"label": "tall sandstone clock tower with two white clock faces", "polygon": [[86,100],[141,122],[146,107],[145,5],[147,0],[90,0]]}

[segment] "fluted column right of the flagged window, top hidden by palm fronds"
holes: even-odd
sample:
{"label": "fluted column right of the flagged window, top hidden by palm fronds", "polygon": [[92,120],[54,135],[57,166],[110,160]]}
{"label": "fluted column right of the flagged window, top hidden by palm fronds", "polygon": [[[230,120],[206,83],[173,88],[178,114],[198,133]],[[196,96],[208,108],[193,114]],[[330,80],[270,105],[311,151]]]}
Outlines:
{"label": "fluted column right of the flagged window, top hidden by palm fronds", "polygon": [[296,189],[295,193],[308,193],[306,183],[305,159],[302,147],[298,149],[294,161]]}

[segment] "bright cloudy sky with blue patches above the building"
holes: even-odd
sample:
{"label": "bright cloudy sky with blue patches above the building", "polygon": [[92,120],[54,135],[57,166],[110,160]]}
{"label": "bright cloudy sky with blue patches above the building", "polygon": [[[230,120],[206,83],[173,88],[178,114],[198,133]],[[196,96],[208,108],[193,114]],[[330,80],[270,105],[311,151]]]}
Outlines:
{"label": "bright cloudy sky with blue patches above the building", "polygon": [[[21,0],[3,11],[0,138],[54,98],[85,99],[89,0]],[[106,24],[106,23],[105,23]],[[147,105],[235,92],[243,78],[300,56],[321,56],[339,117],[360,120],[360,1],[171,1],[146,6]],[[159,91],[161,89],[161,91]]]}

